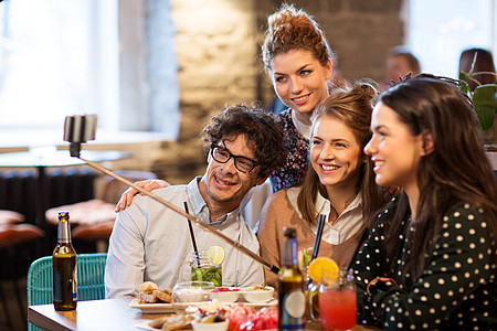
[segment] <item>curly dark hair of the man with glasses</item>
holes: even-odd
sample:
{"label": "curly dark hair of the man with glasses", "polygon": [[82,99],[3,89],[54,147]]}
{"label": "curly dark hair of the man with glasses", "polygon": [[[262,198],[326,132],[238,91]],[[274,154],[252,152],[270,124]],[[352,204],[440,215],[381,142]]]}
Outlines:
{"label": "curly dark hair of the man with glasses", "polygon": [[213,115],[202,131],[205,150],[223,139],[245,135],[256,161],[260,178],[269,175],[286,160],[283,130],[273,114],[258,106],[233,105]]}

